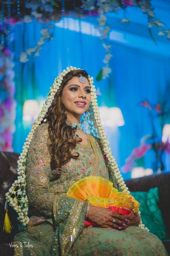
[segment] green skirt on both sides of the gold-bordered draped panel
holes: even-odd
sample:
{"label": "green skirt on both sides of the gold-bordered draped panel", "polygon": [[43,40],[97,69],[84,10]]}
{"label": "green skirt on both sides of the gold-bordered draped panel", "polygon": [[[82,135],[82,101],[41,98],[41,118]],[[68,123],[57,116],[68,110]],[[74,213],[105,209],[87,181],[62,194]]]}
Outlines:
{"label": "green skirt on both sides of the gold-bordered draped panel", "polygon": [[[21,256],[21,250],[23,256],[50,256],[53,237],[54,229],[50,223],[44,222],[32,226],[14,237],[13,244],[19,245],[19,248],[15,248],[15,256]],[[32,248],[25,246],[28,242],[33,246]],[[83,228],[69,255],[167,256],[168,254],[157,236],[136,226],[129,226],[123,231],[111,228]]]}

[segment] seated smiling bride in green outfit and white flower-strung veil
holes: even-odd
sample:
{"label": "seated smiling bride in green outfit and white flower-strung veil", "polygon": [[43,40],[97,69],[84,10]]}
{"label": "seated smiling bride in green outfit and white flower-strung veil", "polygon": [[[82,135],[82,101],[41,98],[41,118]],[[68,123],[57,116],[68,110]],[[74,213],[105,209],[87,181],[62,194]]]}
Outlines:
{"label": "seated smiling bride in green outfit and white flower-strung veil", "polygon": [[75,182],[93,176],[131,198],[85,70],[70,66],[54,80],[17,163],[18,179],[6,194],[25,228],[14,237],[15,256],[168,255],[139,211],[121,215],[67,194]]}

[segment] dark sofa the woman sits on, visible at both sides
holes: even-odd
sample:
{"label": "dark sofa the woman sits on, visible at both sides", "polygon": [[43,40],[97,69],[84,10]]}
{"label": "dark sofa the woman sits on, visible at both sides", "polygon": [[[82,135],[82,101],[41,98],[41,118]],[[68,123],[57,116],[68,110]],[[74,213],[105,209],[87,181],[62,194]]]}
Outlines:
{"label": "dark sofa the woman sits on, visible at both sides", "polygon": [[[11,208],[8,208],[9,218],[12,222],[13,229],[11,234],[6,234],[3,231],[3,221],[5,218],[5,193],[11,187],[14,180],[17,178],[17,160],[19,154],[12,152],[0,151],[0,255],[13,256],[13,248],[9,247],[15,234],[19,232],[17,221],[17,213]],[[155,174],[145,176],[138,179],[130,179],[125,181],[130,191],[148,191],[150,188],[159,188],[159,209],[161,209],[164,218],[167,236],[170,239],[170,173]],[[170,255],[170,241],[163,241]]]}

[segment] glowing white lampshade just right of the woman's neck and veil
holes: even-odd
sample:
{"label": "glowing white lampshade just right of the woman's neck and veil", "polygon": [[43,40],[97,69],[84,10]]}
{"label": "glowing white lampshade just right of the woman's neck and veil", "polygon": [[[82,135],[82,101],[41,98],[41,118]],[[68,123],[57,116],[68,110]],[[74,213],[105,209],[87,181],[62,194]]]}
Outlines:
{"label": "glowing white lampshade just right of the woman's neck and veil", "polygon": [[99,107],[102,124],[107,127],[123,126],[125,124],[122,112],[117,107]]}

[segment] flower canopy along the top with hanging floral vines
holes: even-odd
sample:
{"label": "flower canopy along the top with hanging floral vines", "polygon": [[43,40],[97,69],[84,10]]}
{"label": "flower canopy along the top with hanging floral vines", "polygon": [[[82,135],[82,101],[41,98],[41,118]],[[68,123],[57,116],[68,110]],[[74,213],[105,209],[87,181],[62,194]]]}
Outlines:
{"label": "flower canopy along the top with hanging floral vines", "polygon": [[[41,24],[47,24],[51,21],[57,22],[59,21],[63,16],[63,5],[64,5],[64,12],[66,16],[72,16],[74,10],[75,2],[74,0],[63,0],[55,2],[53,0],[43,0],[41,2],[37,2],[36,0],[26,0],[24,2],[19,2],[17,0],[12,1],[11,5],[9,6],[8,1],[3,1],[4,5],[4,22],[6,24],[15,25],[22,22],[29,23],[32,22],[33,19],[36,19],[37,22]],[[105,25],[107,17],[104,15],[108,12],[117,12],[120,9],[126,10],[127,7],[136,6],[137,8],[140,8],[141,11],[148,16],[148,30],[151,35],[151,38],[155,41],[153,38],[153,35],[151,33],[152,27],[158,28],[158,35],[164,35],[167,36],[168,40],[170,39],[170,30],[159,19],[156,18],[156,15],[154,13],[154,8],[151,6],[151,1],[148,0],[115,0],[114,2],[110,2],[110,0],[81,0],[79,2],[76,2],[76,8],[79,9],[80,17],[84,18],[85,16],[96,16],[97,14],[100,15],[98,20],[99,26],[97,29],[101,33],[100,40],[104,40],[108,37],[108,33],[110,31],[110,26]],[[8,8],[7,8],[8,7]],[[16,10],[17,7],[17,10]],[[12,9],[12,12],[10,12],[9,16],[9,8]],[[20,8],[20,11],[19,11]],[[8,10],[8,11],[7,11]],[[127,23],[130,22],[130,19],[127,17],[124,17],[121,19],[121,23]],[[34,53],[34,56],[39,56],[39,50],[42,49],[41,45],[45,43],[45,39],[49,38],[53,39],[53,33],[51,35],[49,34],[49,29],[54,27],[54,25],[50,24],[48,27],[42,28],[40,33],[43,34],[43,36],[39,39],[37,46],[27,49],[26,52],[21,52],[20,55],[20,61],[26,62],[28,61],[28,55],[31,55],[31,53]],[[0,33],[4,33],[5,36],[6,33],[8,33],[10,29],[7,31],[4,31],[2,28],[0,28]],[[48,40],[48,41],[49,41]],[[156,41],[155,41],[156,43]],[[112,57],[110,52],[110,45],[106,45],[102,43],[102,46],[106,50],[106,54],[104,57],[103,62],[106,64],[102,69],[100,69],[96,80],[99,81],[100,79],[105,79],[108,77],[108,74],[111,72],[111,69],[109,68],[108,64],[110,61],[110,58]],[[109,47],[109,48],[108,48]]]}

